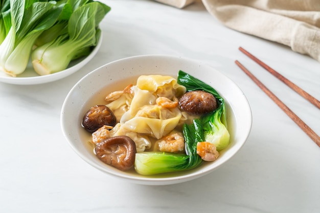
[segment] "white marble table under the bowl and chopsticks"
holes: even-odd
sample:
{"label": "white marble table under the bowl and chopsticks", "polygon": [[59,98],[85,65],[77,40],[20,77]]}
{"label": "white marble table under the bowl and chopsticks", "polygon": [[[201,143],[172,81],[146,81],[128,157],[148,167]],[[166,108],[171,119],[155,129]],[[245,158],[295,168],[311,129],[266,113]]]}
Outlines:
{"label": "white marble table under the bowl and chopsticks", "polygon": [[[239,60],[320,135],[320,111],[244,56],[242,46],[320,99],[320,63],[225,28],[201,3],[103,1],[103,44],[81,70],[34,86],[0,83],[0,212],[320,212],[320,148],[234,63]],[[86,73],[113,60],[161,54],[205,62],[247,96],[252,132],[209,175],[162,187],[108,176],[67,144],[60,110]]]}

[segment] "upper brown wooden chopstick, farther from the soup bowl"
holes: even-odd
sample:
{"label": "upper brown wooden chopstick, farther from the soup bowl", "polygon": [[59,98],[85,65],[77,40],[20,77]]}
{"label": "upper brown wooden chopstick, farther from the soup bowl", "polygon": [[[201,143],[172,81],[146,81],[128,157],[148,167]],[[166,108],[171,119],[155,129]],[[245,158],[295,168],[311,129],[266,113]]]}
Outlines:
{"label": "upper brown wooden chopstick, farther from the soup bowl", "polygon": [[276,76],[280,81],[282,81],[283,83],[285,83],[288,87],[290,87],[292,90],[294,90],[295,92],[297,92],[299,95],[301,95],[302,97],[306,98],[308,101],[310,101],[313,105],[315,105],[315,107],[317,107],[318,109],[320,109],[320,101],[317,100],[315,97],[313,97],[312,95],[310,95],[309,93],[307,93],[306,91],[304,91],[303,89],[301,89],[300,87],[296,86],[294,83],[290,82],[289,79],[287,79],[286,77],[284,77],[282,74],[280,74],[279,72],[277,72],[276,70],[272,69],[271,67],[269,67],[268,65],[266,65],[265,63],[263,63],[262,61],[260,61],[259,59],[257,59],[255,56],[253,56],[252,54],[250,54],[247,50],[243,49],[242,47],[239,47],[239,50],[241,52],[243,52],[247,57],[249,57],[250,59],[254,60],[255,62],[257,62],[257,64],[259,64],[260,66],[262,66],[264,69],[266,69],[268,72],[270,72],[272,75]]}

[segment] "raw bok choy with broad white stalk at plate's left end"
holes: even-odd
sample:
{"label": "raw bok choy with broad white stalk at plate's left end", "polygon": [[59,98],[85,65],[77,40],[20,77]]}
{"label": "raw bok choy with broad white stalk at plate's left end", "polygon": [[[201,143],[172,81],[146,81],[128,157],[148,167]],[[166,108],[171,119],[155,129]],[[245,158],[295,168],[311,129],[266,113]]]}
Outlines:
{"label": "raw bok choy with broad white stalk at plate's left end", "polygon": [[51,28],[62,12],[55,2],[34,2],[26,5],[24,0],[11,0],[11,28],[0,45],[0,67],[16,76],[25,71],[32,46],[42,31]]}

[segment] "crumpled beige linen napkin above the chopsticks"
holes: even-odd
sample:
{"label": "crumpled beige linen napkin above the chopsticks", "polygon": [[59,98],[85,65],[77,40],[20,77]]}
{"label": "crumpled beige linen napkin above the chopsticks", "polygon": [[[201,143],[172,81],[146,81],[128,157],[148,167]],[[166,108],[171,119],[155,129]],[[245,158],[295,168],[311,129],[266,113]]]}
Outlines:
{"label": "crumpled beige linen napkin above the chopsticks", "polygon": [[[171,0],[174,1],[181,2]],[[202,2],[228,28],[290,46],[320,62],[320,0]]]}

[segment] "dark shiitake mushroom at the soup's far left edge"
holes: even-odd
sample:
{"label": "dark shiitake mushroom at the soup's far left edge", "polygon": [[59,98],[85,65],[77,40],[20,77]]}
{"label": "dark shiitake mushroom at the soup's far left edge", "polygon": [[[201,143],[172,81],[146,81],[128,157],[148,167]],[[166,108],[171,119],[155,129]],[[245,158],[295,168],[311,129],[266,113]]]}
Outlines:
{"label": "dark shiitake mushroom at the soup's far left edge", "polygon": [[106,105],[95,105],[84,114],[82,119],[82,126],[90,133],[104,125],[115,126],[116,123],[116,116]]}

